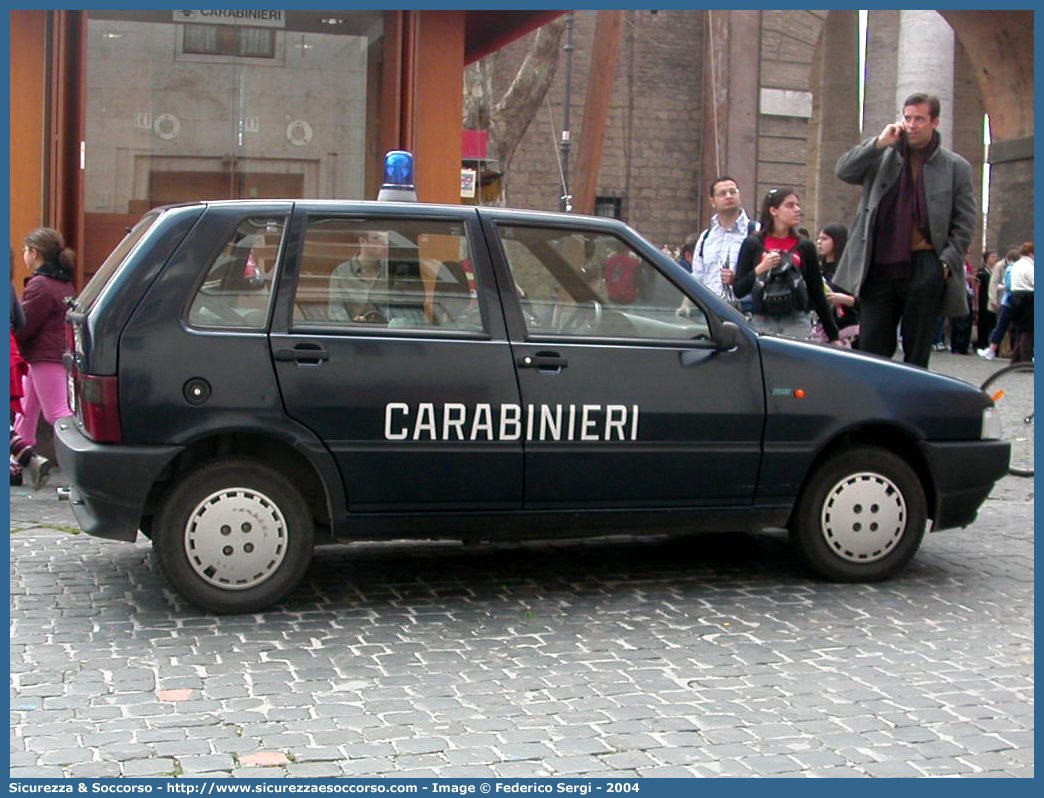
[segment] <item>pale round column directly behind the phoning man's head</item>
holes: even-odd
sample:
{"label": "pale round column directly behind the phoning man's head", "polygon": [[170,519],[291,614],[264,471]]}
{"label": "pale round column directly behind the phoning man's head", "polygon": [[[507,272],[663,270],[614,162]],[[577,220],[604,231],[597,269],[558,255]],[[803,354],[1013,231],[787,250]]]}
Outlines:
{"label": "pale round column directly behind the phoning man's head", "polygon": [[896,114],[911,94],[926,92],[942,101],[939,133],[953,147],[953,28],[936,11],[899,13]]}

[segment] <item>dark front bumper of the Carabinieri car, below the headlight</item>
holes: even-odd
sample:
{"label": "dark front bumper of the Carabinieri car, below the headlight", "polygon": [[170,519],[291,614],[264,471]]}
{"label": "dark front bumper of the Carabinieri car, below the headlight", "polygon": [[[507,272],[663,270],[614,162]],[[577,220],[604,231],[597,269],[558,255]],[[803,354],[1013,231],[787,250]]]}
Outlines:
{"label": "dark front bumper of the Carabinieri car, below the headlight", "polygon": [[1012,456],[1006,441],[922,443],[921,451],[935,487],[933,532],[974,521]]}

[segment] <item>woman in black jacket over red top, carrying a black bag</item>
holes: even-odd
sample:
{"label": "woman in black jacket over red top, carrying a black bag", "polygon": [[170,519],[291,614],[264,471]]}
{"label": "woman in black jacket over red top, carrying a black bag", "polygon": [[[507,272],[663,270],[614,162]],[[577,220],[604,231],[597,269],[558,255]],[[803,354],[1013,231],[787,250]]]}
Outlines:
{"label": "woman in black jacket over red top, carrying a black bag", "polygon": [[755,322],[766,332],[808,338],[808,304],[823,320],[831,344],[837,325],[824,292],[815,245],[798,235],[801,202],[789,187],[774,188],[761,203],[758,232],[748,236],[736,259],[733,289],[754,299]]}

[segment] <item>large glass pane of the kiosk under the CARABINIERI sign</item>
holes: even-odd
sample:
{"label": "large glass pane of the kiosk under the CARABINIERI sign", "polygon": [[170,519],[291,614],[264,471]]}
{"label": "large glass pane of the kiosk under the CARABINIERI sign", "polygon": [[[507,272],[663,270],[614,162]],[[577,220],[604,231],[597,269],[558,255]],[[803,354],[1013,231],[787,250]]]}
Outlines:
{"label": "large glass pane of the kiosk under the CARABINIERI sign", "polygon": [[380,11],[92,10],[84,265],[150,208],[369,198]]}

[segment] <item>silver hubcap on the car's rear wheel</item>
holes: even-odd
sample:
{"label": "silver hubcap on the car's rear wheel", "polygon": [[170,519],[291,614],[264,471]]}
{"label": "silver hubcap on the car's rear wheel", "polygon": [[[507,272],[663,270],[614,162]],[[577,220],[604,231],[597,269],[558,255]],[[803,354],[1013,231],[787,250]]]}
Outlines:
{"label": "silver hubcap on the car's rear wheel", "polygon": [[205,582],[245,590],[275,573],[286,557],[283,514],[263,493],[223,488],[196,504],[185,526],[185,554]]}

